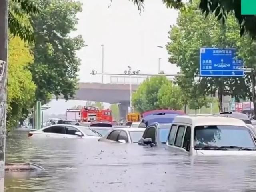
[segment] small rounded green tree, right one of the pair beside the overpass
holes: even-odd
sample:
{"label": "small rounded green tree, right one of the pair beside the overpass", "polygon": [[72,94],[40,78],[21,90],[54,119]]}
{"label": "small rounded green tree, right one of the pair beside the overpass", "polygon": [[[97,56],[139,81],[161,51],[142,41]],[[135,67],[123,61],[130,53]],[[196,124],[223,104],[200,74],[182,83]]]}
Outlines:
{"label": "small rounded green tree, right one of the pair beside the overpass", "polygon": [[169,81],[158,91],[158,103],[162,109],[181,110],[183,107],[182,90]]}

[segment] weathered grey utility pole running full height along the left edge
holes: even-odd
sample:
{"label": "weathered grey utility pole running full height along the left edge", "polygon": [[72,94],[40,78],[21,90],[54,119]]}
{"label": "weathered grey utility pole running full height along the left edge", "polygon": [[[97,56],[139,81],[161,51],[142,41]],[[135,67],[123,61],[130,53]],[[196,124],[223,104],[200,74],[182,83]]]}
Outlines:
{"label": "weathered grey utility pole running full height along the left edge", "polygon": [[0,192],[4,192],[8,55],[8,0],[0,0]]}

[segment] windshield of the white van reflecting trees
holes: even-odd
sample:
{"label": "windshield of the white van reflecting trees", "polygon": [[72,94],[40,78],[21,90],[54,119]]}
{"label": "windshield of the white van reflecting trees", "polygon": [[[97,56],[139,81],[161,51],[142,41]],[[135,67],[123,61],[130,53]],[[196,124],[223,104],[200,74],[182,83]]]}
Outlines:
{"label": "windshield of the white van reflecting trees", "polygon": [[255,148],[250,131],[242,126],[196,126],[194,142],[195,148],[205,146]]}

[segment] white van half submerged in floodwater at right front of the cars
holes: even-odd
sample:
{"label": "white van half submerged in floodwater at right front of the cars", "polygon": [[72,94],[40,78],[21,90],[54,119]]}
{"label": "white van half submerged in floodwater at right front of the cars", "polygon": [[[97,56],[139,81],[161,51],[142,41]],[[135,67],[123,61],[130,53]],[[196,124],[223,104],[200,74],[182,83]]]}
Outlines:
{"label": "white van half submerged in floodwater at right front of the cars", "polygon": [[177,116],[166,148],[189,155],[254,155],[256,138],[239,119],[221,116]]}

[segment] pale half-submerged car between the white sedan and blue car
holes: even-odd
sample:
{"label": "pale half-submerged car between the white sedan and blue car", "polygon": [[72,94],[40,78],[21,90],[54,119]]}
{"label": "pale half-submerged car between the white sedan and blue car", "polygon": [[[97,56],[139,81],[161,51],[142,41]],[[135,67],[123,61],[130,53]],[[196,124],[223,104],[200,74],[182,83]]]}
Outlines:
{"label": "pale half-submerged car between the white sedan and blue car", "polygon": [[99,139],[104,142],[138,143],[145,128],[118,128]]}

